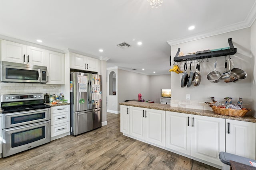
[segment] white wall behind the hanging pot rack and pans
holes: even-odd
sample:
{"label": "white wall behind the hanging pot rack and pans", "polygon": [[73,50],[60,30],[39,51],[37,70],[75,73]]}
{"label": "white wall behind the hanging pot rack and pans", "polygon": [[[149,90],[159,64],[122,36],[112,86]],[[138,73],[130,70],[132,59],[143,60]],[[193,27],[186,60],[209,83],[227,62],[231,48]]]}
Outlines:
{"label": "white wall behind the hanging pot rack and pans", "polygon": [[[191,86],[190,88],[181,88],[180,80],[182,74],[172,72],[172,101],[186,101],[186,94],[190,94],[190,100],[198,102],[210,102],[210,97],[214,96],[215,99],[220,102],[224,101],[225,97],[232,97],[234,103],[236,103],[238,98],[241,97],[243,98],[244,104],[251,104],[251,84],[253,78],[254,59],[252,59],[250,53],[250,28],[240,29],[238,31],[232,31],[178,45],[172,45],[172,58],[176,55],[178,48],[180,48],[184,54],[187,54],[193,51],[229,47],[228,38],[232,38],[233,45],[237,48],[237,53],[231,56],[234,61],[234,65],[235,67],[246,71],[247,78],[236,83],[225,83],[224,81],[221,81],[213,84],[209,82],[206,75],[214,69],[215,58],[210,58],[209,62],[206,62],[205,59],[204,63],[200,64],[202,80],[198,87]],[[218,64],[216,70],[221,73],[224,72],[224,61],[225,56],[217,57]],[[182,67],[182,62],[179,62],[179,65]],[[194,66],[195,70],[196,64],[193,63],[192,66]]]}

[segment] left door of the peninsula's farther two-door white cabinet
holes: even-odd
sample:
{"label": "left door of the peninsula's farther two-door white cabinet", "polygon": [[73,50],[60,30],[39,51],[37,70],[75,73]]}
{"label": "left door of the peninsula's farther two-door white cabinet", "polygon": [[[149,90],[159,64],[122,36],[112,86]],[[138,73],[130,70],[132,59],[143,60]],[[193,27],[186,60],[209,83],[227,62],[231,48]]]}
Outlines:
{"label": "left door of the peninsula's farther two-door white cabinet", "polygon": [[146,110],[145,108],[130,106],[130,115],[129,115],[130,133],[129,134],[139,139],[144,139],[145,110]]}

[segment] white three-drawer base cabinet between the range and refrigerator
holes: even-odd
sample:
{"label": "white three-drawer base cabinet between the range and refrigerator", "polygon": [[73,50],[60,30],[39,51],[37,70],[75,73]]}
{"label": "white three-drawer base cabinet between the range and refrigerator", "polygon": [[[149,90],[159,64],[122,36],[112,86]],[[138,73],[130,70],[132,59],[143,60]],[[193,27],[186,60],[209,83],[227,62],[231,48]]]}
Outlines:
{"label": "white three-drawer base cabinet between the range and refrigerator", "polygon": [[69,133],[70,105],[51,107],[51,141]]}

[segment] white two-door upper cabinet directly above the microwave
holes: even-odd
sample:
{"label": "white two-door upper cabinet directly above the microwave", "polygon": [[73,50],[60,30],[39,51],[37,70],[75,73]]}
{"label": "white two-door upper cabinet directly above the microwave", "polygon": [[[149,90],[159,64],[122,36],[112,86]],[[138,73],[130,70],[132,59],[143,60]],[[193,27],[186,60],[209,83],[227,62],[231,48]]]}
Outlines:
{"label": "white two-door upper cabinet directly above the microwave", "polygon": [[2,61],[46,66],[45,49],[6,40],[2,40],[1,48]]}

